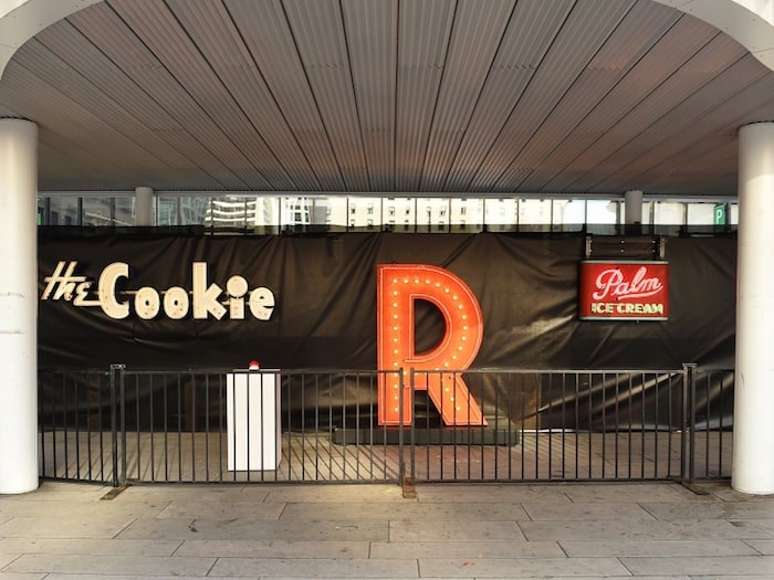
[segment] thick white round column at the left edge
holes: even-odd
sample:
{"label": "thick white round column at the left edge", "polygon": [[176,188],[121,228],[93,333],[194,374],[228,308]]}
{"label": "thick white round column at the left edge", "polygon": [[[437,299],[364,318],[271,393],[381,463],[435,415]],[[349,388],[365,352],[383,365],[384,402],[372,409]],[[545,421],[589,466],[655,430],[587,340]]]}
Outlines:
{"label": "thick white round column at the left edge", "polygon": [[38,126],[0,119],[0,494],[38,487]]}

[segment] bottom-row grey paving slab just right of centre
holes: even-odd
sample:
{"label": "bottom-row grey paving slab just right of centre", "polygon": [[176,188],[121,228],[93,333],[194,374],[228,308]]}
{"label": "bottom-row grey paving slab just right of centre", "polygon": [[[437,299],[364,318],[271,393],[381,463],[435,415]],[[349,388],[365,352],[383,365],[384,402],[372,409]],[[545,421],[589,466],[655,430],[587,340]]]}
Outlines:
{"label": "bottom-row grey paving slab just right of centre", "polygon": [[422,578],[535,578],[559,574],[577,578],[625,576],[628,572],[616,558],[420,559],[419,571]]}

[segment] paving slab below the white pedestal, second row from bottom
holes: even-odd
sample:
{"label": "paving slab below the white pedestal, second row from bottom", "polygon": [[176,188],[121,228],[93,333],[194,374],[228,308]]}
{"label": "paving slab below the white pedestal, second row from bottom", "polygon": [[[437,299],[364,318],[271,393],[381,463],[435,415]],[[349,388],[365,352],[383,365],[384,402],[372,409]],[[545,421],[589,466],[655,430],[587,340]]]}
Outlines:
{"label": "paving slab below the white pedestal, second row from bottom", "polygon": [[[368,558],[368,541],[186,540],[175,556],[217,558]],[[751,548],[752,550],[752,548]],[[754,550],[753,550],[754,551]],[[372,557],[374,556],[370,552]]]}

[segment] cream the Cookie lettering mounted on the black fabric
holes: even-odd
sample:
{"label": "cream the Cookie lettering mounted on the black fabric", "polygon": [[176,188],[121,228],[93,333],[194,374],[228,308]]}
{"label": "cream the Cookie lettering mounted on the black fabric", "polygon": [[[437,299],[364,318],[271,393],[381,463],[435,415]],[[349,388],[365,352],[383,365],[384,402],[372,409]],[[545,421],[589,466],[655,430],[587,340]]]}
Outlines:
{"label": "cream the Cookie lettering mounted on the black fabric", "polygon": [[[191,303],[192,316],[196,319],[207,319],[211,315],[220,320],[228,314],[234,320],[243,320],[244,297],[248,295],[248,309],[253,318],[269,320],[274,312],[274,293],[264,286],[250,291],[248,281],[239,275],[228,280],[226,299],[221,299],[223,288],[216,283],[207,285],[206,262],[194,262],[190,292],[180,286],[172,286],[166,291],[143,286],[135,292],[118,292],[121,281],[129,277],[129,265],[125,262],[114,262],[100,274],[96,298],[91,298],[94,281],[75,275],[76,267],[75,261],[59,262],[54,273],[43,278],[46,286],[41,300],[64,300],[73,306],[100,306],[107,316],[116,320],[128,317],[130,306],[134,307],[137,317],[144,320],[155,318],[161,310],[168,318],[180,320],[188,316]],[[129,300],[125,294],[134,294],[134,299]]]}

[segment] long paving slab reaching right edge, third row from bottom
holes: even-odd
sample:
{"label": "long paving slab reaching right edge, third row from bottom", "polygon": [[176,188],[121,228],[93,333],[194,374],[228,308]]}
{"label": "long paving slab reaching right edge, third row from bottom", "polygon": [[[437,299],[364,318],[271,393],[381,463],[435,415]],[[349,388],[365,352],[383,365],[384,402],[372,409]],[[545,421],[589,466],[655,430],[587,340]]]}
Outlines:
{"label": "long paving slab reaching right edge, third row from bottom", "polygon": [[724,519],[520,521],[519,526],[529,540],[763,539],[770,537],[765,530],[750,523],[740,521],[734,525]]}

